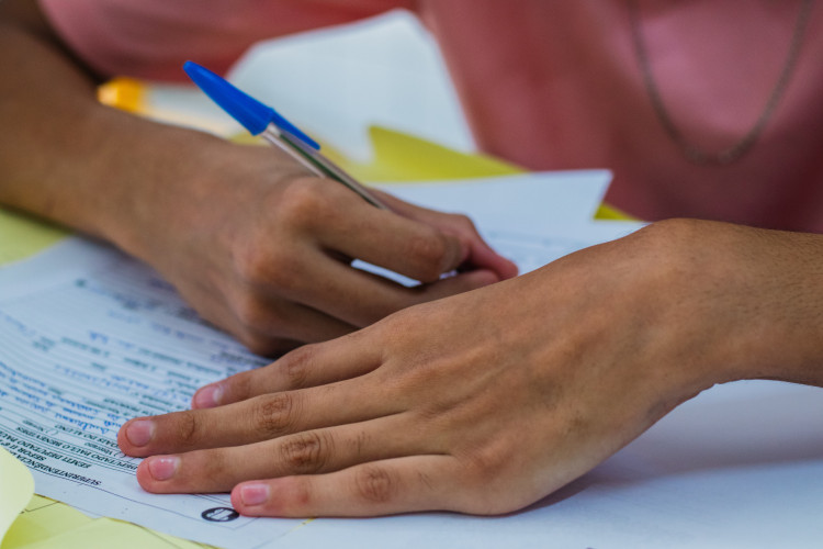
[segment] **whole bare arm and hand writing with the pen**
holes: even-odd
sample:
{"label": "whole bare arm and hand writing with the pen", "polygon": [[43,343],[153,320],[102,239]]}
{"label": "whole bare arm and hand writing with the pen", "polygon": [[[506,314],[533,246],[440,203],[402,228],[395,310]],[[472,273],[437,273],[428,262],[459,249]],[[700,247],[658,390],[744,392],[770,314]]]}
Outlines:
{"label": "whole bare arm and hand writing with the pen", "polygon": [[[110,240],[269,355],[517,273],[471,221],[309,177],[283,153],[101,105],[33,1],[0,3],[0,204]],[[352,268],[362,259],[422,282]],[[441,274],[459,274],[441,280]]]}

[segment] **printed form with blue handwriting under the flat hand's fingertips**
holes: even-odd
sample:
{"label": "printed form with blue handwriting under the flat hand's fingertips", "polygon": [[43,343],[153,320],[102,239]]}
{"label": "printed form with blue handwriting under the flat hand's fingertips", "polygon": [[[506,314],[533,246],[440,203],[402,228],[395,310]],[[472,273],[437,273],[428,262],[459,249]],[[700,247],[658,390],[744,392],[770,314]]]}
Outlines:
{"label": "printed form with blue handwriting under the flat hand's fingertips", "polygon": [[[144,492],[116,433],[126,419],[189,407],[204,383],[267,363],[204,325],[151,269],[79,238],[0,270],[0,444],[37,493],[91,515],[230,545],[298,520],[225,517],[226,494]],[[248,545],[246,545],[248,547]]]}

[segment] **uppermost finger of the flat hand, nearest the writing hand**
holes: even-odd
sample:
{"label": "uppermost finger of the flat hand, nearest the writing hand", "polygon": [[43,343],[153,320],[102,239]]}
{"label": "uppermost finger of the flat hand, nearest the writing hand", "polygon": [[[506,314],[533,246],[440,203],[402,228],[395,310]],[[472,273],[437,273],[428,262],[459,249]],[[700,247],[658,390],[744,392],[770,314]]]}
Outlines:
{"label": "uppermost finger of the flat hand, nearest the writing hand", "polygon": [[376,346],[362,340],[363,333],[356,332],[323,345],[305,345],[269,366],[201,388],[192,397],[192,407],[213,407],[362,376],[377,368],[382,359]]}

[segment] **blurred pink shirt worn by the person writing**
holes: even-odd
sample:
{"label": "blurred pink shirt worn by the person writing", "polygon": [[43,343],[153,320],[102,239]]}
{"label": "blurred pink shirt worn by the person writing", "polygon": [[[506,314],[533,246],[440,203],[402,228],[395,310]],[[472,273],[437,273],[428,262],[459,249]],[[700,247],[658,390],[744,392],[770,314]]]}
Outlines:
{"label": "blurred pink shirt worn by the person writing", "polygon": [[[640,0],[663,101],[690,143],[744,136],[786,63],[800,0]],[[607,200],[645,220],[691,216],[823,232],[823,9],[747,155],[689,163],[643,82],[624,0],[41,0],[106,75],[226,70],[262,38],[414,10],[437,36],[480,146],[530,169],[607,167]]]}

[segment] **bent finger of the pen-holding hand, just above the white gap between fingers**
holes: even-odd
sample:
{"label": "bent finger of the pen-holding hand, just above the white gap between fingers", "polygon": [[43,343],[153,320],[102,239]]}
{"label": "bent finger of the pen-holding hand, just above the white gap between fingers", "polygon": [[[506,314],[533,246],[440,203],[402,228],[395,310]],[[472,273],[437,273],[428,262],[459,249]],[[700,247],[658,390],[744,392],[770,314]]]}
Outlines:
{"label": "bent finger of the pen-holding hand, just above the white gap between fingers", "polygon": [[433,282],[456,269],[470,251],[454,235],[356,197],[347,197],[345,208],[329,204],[322,212],[312,228],[324,248],[421,282]]}

